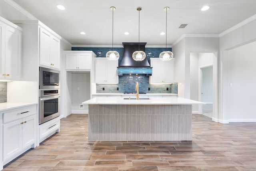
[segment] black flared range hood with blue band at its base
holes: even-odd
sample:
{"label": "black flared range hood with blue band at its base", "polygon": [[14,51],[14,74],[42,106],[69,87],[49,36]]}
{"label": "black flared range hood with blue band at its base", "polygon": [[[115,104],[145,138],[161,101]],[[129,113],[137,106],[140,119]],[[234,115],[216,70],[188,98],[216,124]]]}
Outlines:
{"label": "black flared range hood with blue band at its base", "polygon": [[124,54],[120,65],[117,68],[118,76],[122,76],[123,74],[152,75],[152,67],[150,67],[147,58],[143,61],[135,61],[132,59],[133,52],[137,50],[145,52],[145,45],[146,43],[123,43]]}

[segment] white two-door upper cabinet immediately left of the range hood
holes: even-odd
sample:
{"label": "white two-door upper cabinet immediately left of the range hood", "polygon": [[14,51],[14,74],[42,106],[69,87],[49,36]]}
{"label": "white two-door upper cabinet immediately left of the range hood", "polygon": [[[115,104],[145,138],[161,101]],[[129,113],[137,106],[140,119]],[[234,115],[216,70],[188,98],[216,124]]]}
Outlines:
{"label": "white two-door upper cabinet immediately left of the range hood", "polygon": [[118,60],[95,58],[95,83],[118,84]]}

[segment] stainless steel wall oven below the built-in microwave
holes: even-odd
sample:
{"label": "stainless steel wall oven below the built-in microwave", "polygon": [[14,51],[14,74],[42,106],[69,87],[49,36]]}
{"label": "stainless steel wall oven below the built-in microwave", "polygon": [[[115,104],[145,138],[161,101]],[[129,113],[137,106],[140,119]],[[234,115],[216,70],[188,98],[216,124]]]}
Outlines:
{"label": "stainless steel wall oven below the built-in microwave", "polygon": [[39,90],[39,125],[60,116],[60,89]]}

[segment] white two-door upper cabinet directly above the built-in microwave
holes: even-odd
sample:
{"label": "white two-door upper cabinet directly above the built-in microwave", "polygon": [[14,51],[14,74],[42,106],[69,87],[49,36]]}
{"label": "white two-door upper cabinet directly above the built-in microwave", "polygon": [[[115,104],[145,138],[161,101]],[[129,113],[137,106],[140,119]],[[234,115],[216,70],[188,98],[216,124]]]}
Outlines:
{"label": "white two-door upper cabinet directly above the built-in microwave", "polygon": [[60,69],[60,39],[40,27],[40,65]]}

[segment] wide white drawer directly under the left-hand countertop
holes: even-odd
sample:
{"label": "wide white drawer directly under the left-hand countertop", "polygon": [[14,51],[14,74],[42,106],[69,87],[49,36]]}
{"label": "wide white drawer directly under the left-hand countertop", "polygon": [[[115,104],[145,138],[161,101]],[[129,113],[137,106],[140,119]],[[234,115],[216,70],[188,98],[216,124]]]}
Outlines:
{"label": "wide white drawer directly under the left-hand countertop", "polygon": [[3,112],[3,122],[7,123],[34,114],[36,114],[36,105],[19,107],[18,109]]}

